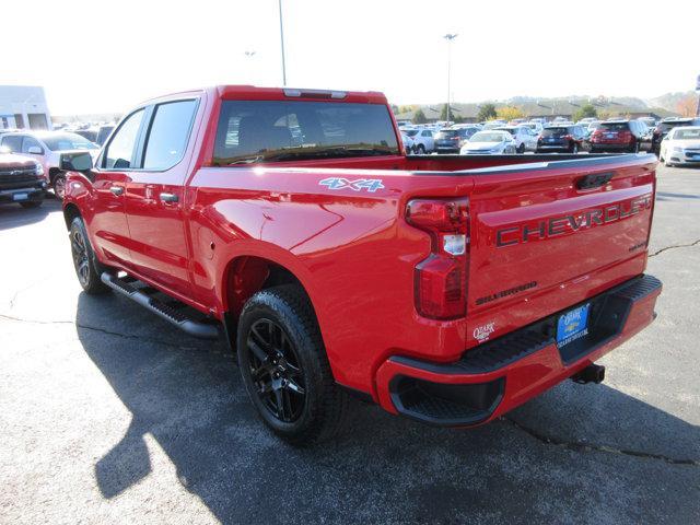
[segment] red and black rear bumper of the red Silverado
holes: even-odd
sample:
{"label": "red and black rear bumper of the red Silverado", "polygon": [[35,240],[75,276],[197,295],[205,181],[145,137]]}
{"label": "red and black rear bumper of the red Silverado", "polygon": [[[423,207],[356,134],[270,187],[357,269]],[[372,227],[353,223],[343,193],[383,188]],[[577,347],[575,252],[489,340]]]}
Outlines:
{"label": "red and black rear bumper of the red Silverado", "polygon": [[392,357],[376,374],[380,404],[389,412],[443,427],[491,421],[649,325],[661,290],[658,279],[640,276],[581,303],[591,303],[588,332],[562,348],[556,342],[559,312],[474,348],[454,363]]}

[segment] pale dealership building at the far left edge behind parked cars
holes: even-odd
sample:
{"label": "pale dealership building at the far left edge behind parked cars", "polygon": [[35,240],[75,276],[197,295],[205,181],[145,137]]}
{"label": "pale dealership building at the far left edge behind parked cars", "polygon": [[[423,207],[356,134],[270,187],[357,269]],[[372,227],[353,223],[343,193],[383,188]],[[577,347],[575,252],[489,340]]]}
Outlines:
{"label": "pale dealership building at the far left edge behind parked cars", "polygon": [[0,129],[52,129],[44,88],[0,85]]}

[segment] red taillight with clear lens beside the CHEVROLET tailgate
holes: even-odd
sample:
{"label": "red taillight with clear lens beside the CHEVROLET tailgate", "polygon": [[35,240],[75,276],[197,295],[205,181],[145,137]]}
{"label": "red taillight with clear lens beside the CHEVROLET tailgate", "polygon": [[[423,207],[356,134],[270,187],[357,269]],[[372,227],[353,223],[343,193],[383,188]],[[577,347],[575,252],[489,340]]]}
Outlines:
{"label": "red taillight with clear lens beside the CHEVROLET tailgate", "polygon": [[467,311],[467,199],[416,199],[406,221],[431,237],[431,254],[416,266],[416,310],[434,319],[464,317]]}

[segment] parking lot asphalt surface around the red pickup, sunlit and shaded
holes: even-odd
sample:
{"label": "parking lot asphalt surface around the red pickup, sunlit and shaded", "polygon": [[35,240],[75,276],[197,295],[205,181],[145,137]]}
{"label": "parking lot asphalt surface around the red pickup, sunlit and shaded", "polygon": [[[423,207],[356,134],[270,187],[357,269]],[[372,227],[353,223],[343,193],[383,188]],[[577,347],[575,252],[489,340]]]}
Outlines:
{"label": "parking lot asphalt surface around the red pickup, sunlit and shaded", "polygon": [[700,170],[660,168],[658,318],[474,430],[358,404],[295,450],[221,342],[81,293],[60,207],[0,208],[0,523],[700,522]]}

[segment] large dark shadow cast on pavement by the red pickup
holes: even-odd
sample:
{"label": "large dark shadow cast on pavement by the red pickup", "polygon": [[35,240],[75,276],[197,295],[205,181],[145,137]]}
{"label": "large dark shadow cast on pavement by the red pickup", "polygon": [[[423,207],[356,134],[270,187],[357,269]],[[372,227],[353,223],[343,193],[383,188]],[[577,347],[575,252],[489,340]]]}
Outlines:
{"label": "large dark shadow cast on pavement by the red pickup", "polygon": [[699,428],[605,385],[562,384],[468,431],[358,402],[348,435],[299,450],[258,421],[222,341],[112,294],[81,294],[77,324],[132,415],[95,465],[106,499],[153,472],[150,435],[223,523],[681,523],[700,512]]}

